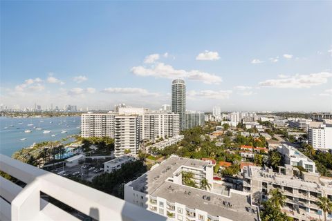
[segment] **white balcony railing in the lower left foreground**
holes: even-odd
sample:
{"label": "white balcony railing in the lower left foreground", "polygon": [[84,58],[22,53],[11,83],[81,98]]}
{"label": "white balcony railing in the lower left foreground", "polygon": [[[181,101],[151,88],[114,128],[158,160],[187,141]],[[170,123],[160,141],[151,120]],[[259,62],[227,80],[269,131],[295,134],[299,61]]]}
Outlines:
{"label": "white balcony railing in the lower left foreground", "polygon": [[26,183],[0,177],[1,220],[79,220],[40,197],[41,192],[95,220],[167,220],[151,211],[35,166],[0,155],[0,169]]}

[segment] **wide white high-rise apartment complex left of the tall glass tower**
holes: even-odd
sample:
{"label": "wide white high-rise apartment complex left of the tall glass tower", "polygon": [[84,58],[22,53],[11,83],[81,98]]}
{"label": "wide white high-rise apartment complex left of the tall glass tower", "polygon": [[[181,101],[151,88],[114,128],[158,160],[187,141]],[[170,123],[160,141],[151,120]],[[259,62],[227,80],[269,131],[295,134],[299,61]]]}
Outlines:
{"label": "wide white high-rise apartment complex left of the tall glass tower", "polygon": [[81,117],[82,137],[114,138],[116,157],[123,155],[126,149],[137,154],[142,140],[173,137],[180,133],[178,114],[120,106],[117,111],[90,112]]}

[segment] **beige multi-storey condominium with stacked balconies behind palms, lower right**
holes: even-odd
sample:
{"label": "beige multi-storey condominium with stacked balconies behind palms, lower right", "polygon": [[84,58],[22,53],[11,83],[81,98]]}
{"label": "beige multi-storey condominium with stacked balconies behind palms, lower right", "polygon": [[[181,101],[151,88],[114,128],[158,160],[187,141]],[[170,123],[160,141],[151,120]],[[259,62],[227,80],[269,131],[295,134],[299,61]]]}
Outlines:
{"label": "beige multi-storey condominium with stacked balconies behind palms, lower right", "polygon": [[[268,200],[270,190],[275,188],[281,189],[286,195],[282,211],[299,221],[323,220],[324,214],[317,206],[317,200],[320,196],[332,200],[329,177],[299,172],[299,169],[287,164],[279,166],[278,172],[258,166],[243,169],[243,191],[252,193],[252,200],[257,204]],[[331,218],[329,214],[328,220]]]}

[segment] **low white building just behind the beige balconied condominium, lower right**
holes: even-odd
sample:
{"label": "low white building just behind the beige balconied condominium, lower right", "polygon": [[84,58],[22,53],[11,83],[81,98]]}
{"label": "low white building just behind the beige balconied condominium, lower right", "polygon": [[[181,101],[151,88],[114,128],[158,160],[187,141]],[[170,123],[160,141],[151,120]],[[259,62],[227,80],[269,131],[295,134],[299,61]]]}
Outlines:
{"label": "low white building just behind the beige balconied condominium, lower right", "polygon": [[303,153],[297,151],[293,146],[282,144],[278,146],[277,151],[284,155],[284,163],[291,166],[302,166],[308,173],[315,173],[315,162],[306,157]]}

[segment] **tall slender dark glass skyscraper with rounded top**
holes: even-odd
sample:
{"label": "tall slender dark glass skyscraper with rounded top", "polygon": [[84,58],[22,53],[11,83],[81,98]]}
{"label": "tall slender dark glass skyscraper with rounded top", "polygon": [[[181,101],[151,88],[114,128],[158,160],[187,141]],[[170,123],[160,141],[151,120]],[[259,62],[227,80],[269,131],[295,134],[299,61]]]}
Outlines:
{"label": "tall slender dark glass skyscraper with rounded top", "polygon": [[177,113],[180,119],[180,130],[185,128],[185,81],[172,81],[172,112]]}

